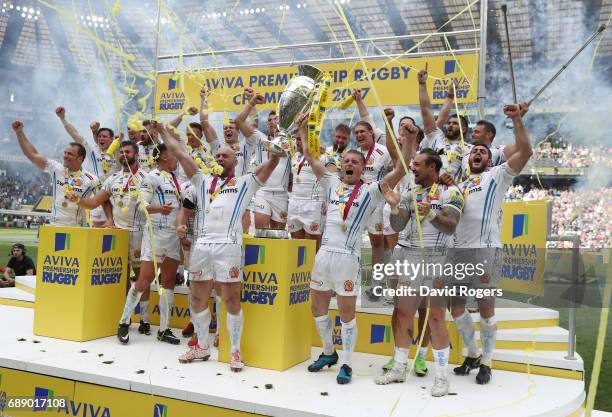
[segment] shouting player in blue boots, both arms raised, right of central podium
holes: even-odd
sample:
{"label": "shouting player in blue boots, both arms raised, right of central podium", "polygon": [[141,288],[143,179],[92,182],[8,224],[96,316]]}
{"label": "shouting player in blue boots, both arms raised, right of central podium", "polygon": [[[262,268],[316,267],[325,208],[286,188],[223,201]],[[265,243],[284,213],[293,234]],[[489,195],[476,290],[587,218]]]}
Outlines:
{"label": "shouting player in blue boots, both arms raised, right of central podium", "polygon": [[[306,117],[302,117],[299,124],[301,137],[307,136],[306,126]],[[358,128],[360,126],[357,125]],[[417,130],[414,127],[410,129],[413,129],[409,130],[410,137],[414,139]],[[365,135],[365,132],[357,133],[358,137]],[[371,133],[368,138],[373,144]],[[409,160],[410,145],[411,143],[407,142],[402,148],[406,160]],[[323,239],[321,249],[315,257],[310,284],[311,309],[323,342],[323,353],[308,367],[308,370],[318,372],[325,366],[329,367],[338,362],[338,353],[332,342],[332,321],[328,314],[329,303],[335,292],[342,322],[343,349],[342,366],[336,381],[339,384],[347,384],[353,374],[352,351],[357,340],[355,305],[357,288],[361,280],[361,234],[366,227],[367,219],[384,201],[382,184],[386,184],[387,188],[395,187],[405,171],[398,161],[384,178],[363,183],[362,175],[366,169],[366,158],[362,152],[350,150],[342,161],[340,175],[342,179],[340,179],[336,174],[328,172],[323,163],[314,158],[307,148],[303,147],[306,160],[323,188],[323,195],[327,196],[327,217]]]}

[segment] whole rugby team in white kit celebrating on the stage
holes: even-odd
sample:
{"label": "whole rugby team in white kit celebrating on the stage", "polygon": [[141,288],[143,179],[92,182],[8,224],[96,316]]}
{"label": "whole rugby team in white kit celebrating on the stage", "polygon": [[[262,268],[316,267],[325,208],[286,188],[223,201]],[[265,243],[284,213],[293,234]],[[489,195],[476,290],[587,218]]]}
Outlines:
{"label": "whole rugby team in white kit celebrating on the stage", "polygon": [[[155,265],[164,288],[157,338],[179,343],[169,327],[169,312],[177,269],[184,266],[189,272],[193,336],[179,361],[210,357],[208,300],[214,291],[217,307],[223,299],[227,309],[230,367],[240,371],[244,366],[240,353],[242,235],[248,232],[250,212],[254,212],[255,228],[287,228],[292,238],[316,240],[318,252],[310,287],[323,352],[308,370],[317,372],[340,361],[337,382],[346,384],[352,377],[351,357],[357,340],[355,306],[364,229],[369,233],[373,266],[396,260],[484,261],[485,273],[465,279],[461,285],[495,288],[501,273],[501,203],[532,154],[522,121],[526,103],[503,107],[514,123],[514,144],[492,145],[495,127],[484,120],[475,124],[468,143],[462,140],[468,131],[467,119],[449,116],[454,101],[452,86],[435,118],[427,93],[427,70],[421,70],[417,78],[422,128],[409,116],[400,118],[396,147],[389,131],[393,109],[384,110],[388,123],[382,131],[356,91],[360,115],[352,128],[356,146],[349,145],[349,126],[339,124],[332,145],[320,157],[314,157],[305,146],[307,120],[303,115],[296,121],[293,135],[295,156],[277,157],[267,152],[262,139],[276,135],[278,115],[274,111],[268,114],[267,134],[257,130],[256,106],[263,104],[264,98],[250,88],[245,90],[248,103],[235,119],[224,124],[222,138],[209,122],[210,91],[205,90],[200,93],[200,108],[187,111],[192,116],[199,114],[200,121],[189,123],[186,135],[177,130],[184,114],[165,126],[144,121],[143,130],[128,129],[126,140],[117,135],[121,142],[114,155],[107,154],[115,138],[111,129],[92,123],[95,146],[91,145],[68,122],[63,107],[58,107],[56,114],[74,140],[64,150],[63,163],[40,155],[28,141],[21,121],[12,127],[23,153],[53,179],[54,225],[89,224],[129,231],[129,261],[136,280],[127,290],[119,322],[121,343],[129,341],[130,317],[137,305],[141,319],[138,331],[150,334],[148,299]],[[439,286],[436,280],[440,277],[422,273],[388,278],[390,285],[399,289]],[[333,324],[328,314],[334,294],[342,324],[341,358],[332,342]],[[371,289],[366,295],[371,299],[379,296]],[[431,340],[435,363],[431,395],[448,393],[449,335],[444,317],[449,305],[468,350],[454,372],[467,375],[478,369],[476,381],[489,382],[497,330],[495,299],[477,301],[482,351],[476,344],[465,299],[457,297],[449,303],[442,296],[397,296],[392,316],[395,354],[375,382],[405,381],[409,347],[418,339],[422,345],[412,369],[424,376]],[[415,334],[412,327],[417,310],[419,332]]]}

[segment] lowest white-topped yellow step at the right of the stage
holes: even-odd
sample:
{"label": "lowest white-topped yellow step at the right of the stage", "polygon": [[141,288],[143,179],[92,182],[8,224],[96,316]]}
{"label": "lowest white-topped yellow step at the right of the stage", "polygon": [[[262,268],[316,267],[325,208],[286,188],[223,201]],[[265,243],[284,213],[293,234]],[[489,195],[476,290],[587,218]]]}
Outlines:
{"label": "lowest white-topped yellow step at the right of the stage", "polygon": [[[462,354],[467,355],[465,348]],[[566,355],[567,352],[557,350],[495,349],[493,369],[582,380],[582,357],[576,353],[576,359],[568,360]]]}

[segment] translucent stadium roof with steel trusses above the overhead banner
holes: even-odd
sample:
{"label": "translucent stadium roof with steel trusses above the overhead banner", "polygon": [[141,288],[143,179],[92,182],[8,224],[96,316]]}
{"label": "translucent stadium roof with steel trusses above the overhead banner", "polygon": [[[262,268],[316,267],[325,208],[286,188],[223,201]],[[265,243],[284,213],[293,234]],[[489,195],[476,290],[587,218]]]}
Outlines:
{"label": "translucent stadium roof with steel trusses above the overhead banner", "polygon": [[[116,15],[114,2],[57,0],[53,8],[34,0],[0,0],[0,67],[48,67],[59,71],[99,72],[99,44],[86,34],[93,31],[108,45],[134,55],[132,66],[147,72],[153,68],[157,19],[156,1],[122,2]],[[518,65],[565,60],[612,12],[612,0],[490,0],[489,54],[505,62],[506,41],[500,12],[508,3],[513,57]],[[106,4],[106,6],[105,6]],[[436,31],[462,9],[444,31],[479,29],[480,6],[474,0],[338,0],[358,39],[394,38]],[[199,67],[294,62],[356,56],[350,32],[327,0],[174,0],[165,1],[161,19],[160,55],[210,52],[187,64]],[[85,30],[86,29],[86,30]],[[180,34],[180,35],[177,35]],[[444,39],[402,38],[362,42],[367,55],[446,50]],[[448,36],[452,49],[478,46],[478,33]],[[248,52],[249,48],[308,44],[302,47]],[[501,45],[501,48],[495,47]],[[233,53],[219,51],[238,50]],[[612,55],[612,36],[600,45],[599,60]],[[489,59],[492,59],[490,56]],[[496,61],[498,62],[498,61]],[[125,63],[108,54],[108,68],[125,73]],[[160,69],[176,62],[162,61]]]}

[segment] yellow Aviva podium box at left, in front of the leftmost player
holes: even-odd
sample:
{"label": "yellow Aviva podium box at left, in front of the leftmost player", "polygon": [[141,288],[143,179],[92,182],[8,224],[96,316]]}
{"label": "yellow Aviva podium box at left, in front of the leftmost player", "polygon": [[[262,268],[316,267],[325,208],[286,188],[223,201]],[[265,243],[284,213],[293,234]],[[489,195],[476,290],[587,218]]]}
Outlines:
{"label": "yellow Aviva podium box at left, in front of the leftmost player", "polygon": [[40,229],[34,334],[75,341],[116,334],[128,238],[117,229]]}

